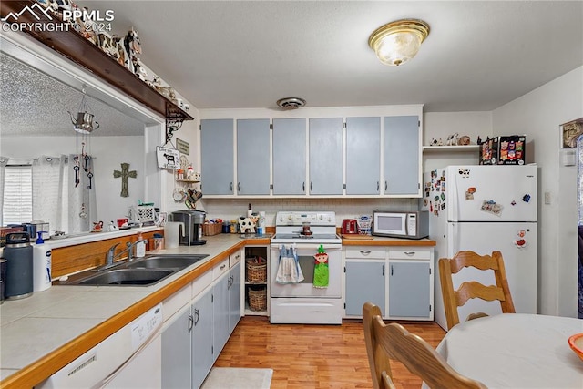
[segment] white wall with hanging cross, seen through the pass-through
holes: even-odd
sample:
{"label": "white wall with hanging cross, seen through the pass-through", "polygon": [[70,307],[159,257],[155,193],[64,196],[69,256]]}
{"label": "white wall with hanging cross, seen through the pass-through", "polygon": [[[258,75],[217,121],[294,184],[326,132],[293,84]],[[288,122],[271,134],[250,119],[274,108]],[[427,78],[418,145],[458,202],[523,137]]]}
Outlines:
{"label": "white wall with hanging cross, seen through the pass-through", "polygon": [[[8,158],[58,157],[79,153],[79,142],[75,136],[2,138],[0,155]],[[107,225],[110,220],[128,215],[129,206],[137,205],[138,199],[145,199],[144,137],[91,137],[89,144],[88,153],[96,157],[93,179],[97,220],[91,221],[102,220]],[[114,170],[121,170],[122,162],[129,163],[129,170],[138,173],[136,179],[128,179],[128,198],[120,197],[121,179],[113,177]]]}

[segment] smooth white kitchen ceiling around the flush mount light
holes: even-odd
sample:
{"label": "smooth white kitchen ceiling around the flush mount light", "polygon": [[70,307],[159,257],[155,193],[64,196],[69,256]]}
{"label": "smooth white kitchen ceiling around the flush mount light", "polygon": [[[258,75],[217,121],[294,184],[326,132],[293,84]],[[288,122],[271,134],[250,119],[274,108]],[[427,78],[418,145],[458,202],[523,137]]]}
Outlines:
{"label": "smooth white kitchen ceiling around the flush mount light", "polygon": [[[141,58],[198,108],[424,104],[490,111],[583,65],[582,1],[86,1],[138,31]],[[401,18],[431,27],[419,54],[368,47]],[[583,82],[583,80],[582,80]]]}

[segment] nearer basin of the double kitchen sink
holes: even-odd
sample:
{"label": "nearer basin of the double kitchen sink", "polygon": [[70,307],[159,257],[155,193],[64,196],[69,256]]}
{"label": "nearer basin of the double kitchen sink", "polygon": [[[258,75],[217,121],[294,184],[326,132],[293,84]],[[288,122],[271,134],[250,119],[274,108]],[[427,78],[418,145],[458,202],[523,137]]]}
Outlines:
{"label": "nearer basin of the double kitchen sink", "polygon": [[151,285],[175,272],[172,269],[115,269],[76,282],[76,285]]}

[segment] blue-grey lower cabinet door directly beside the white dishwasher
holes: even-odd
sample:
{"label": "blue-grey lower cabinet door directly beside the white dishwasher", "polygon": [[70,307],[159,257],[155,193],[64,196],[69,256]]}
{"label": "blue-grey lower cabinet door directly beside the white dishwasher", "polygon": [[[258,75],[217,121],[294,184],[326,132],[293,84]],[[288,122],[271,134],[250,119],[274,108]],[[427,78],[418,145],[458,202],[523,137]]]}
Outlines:
{"label": "blue-grey lower cabinet door directly beside the white dishwasher", "polygon": [[190,305],[176,313],[162,333],[162,387],[190,386]]}

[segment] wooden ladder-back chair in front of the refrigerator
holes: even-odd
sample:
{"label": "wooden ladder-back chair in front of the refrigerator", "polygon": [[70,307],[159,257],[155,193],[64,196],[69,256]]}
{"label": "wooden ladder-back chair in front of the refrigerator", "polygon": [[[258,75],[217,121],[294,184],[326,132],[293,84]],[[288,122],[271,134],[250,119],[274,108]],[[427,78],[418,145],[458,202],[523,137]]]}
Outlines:
{"label": "wooden ladder-back chair in front of the refrigerator", "polygon": [[[496,285],[483,285],[476,281],[462,282],[457,290],[454,289],[452,274],[456,274],[465,267],[474,267],[481,271],[494,271]],[[510,287],[506,279],[504,260],[500,251],[493,251],[492,255],[478,255],[474,251],[459,251],[455,257],[439,260],[439,279],[444,297],[445,317],[447,327],[452,328],[459,323],[457,307],[461,307],[469,299],[479,298],[488,302],[499,301],[502,312],[516,313],[514,302],[510,294]],[[486,313],[470,314],[466,320],[487,316]]]}

